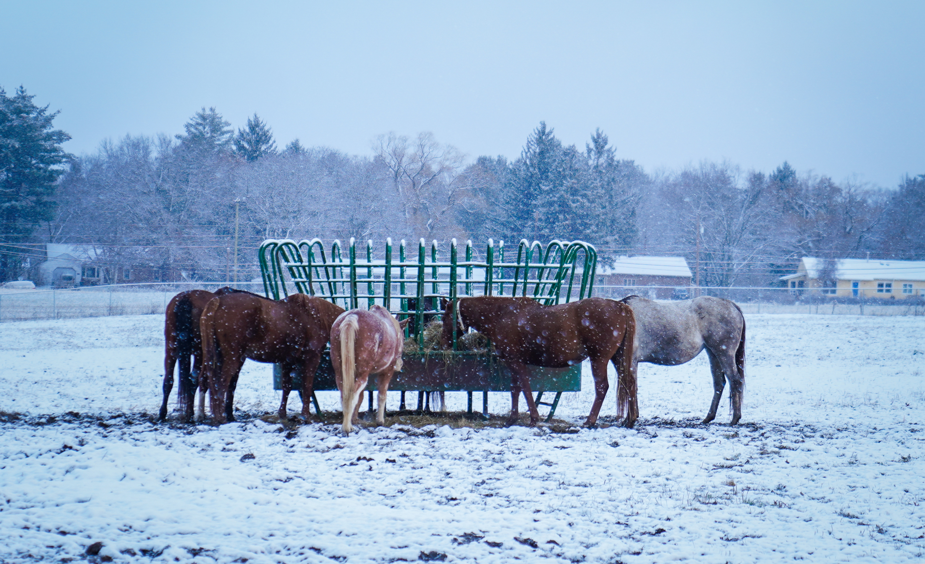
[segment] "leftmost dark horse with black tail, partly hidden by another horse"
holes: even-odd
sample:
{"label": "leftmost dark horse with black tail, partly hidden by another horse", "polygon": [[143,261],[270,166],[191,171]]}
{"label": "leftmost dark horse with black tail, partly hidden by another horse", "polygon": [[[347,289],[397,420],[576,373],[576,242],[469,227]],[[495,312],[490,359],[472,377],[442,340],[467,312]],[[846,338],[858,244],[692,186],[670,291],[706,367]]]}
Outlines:
{"label": "leftmost dark horse with black tail, partly hidden by another horse", "polygon": [[[218,288],[214,293],[204,289],[180,292],[167,304],[164,319],[164,400],[161,402],[160,420],[167,417],[167,400],[173,390],[174,368],[179,361],[179,389],[177,403],[184,421],[192,420],[193,396],[199,386],[202,368],[203,340],[199,334],[199,317],[205,304],[216,296],[231,293],[250,293],[235,288]],[[252,294],[256,295],[256,294]],[[195,361],[191,362],[192,357]]]}

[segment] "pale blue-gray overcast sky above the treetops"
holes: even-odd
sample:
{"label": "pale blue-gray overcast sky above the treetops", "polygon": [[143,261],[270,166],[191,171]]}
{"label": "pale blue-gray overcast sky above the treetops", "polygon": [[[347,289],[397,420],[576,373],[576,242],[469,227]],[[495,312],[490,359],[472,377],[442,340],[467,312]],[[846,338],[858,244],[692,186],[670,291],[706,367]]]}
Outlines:
{"label": "pale blue-gray overcast sky above the treetops", "polygon": [[72,153],[202,106],[282,146],[370,153],[432,131],[515,158],[545,120],[652,171],[789,161],[894,187],[925,173],[925,2],[0,0],[0,86],[60,110]]}

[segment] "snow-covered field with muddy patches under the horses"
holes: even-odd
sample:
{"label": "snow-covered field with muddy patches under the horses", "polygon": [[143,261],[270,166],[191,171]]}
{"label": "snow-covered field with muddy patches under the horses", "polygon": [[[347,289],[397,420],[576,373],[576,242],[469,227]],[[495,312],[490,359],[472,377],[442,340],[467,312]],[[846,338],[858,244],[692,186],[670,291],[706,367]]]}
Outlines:
{"label": "snow-covered field with muddy patches under the horses", "polygon": [[[162,315],[6,323],[0,561],[87,559],[94,543],[92,561],[925,561],[925,318],[746,321],[737,427],[698,423],[701,356],[641,367],[632,430],[350,437],[255,419],[277,393],[250,362],[246,423],[151,423]],[[558,416],[582,420],[587,374],[583,388]],[[490,409],[509,402],[492,394]]]}

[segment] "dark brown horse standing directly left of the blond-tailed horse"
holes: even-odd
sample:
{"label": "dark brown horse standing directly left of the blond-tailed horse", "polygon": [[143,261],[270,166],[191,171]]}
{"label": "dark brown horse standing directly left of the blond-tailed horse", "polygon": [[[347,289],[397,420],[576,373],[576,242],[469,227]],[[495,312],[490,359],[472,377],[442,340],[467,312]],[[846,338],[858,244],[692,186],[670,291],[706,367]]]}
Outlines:
{"label": "dark brown horse standing directly left of the blond-tailed horse", "polygon": [[307,421],[314,373],[340,313],[343,308],[330,301],[304,294],[281,301],[228,294],[209,301],[200,327],[213,423],[233,421],[234,388],[245,359],[282,365],[280,419],[286,417],[292,373],[302,374],[302,417]]}

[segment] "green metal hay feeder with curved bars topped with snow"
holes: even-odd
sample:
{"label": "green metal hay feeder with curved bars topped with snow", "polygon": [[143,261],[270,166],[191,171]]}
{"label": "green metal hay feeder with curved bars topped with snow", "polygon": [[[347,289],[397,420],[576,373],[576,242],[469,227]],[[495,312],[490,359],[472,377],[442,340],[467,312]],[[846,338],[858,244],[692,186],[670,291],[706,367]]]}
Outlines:
{"label": "green metal hay feeder with curved bars topped with snow", "polygon": [[[487,415],[487,392],[511,391],[512,374],[491,352],[461,350],[453,335],[452,349],[429,351],[424,348],[425,321],[440,314],[439,298],[454,300],[467,296],[526,296],[552,305],[590,297],[598,261],[595,248],[584,241],[552,240],[543,246],[539,241],[522,239],[516,261],[505,257],[504,241],[488,239],[484,260],[475,259],[472,241],[465,245],[463,260],[456,239],[444,246],[444,260],[439,260],[439,244],[433,241],[429,257],[424,239],[418,243],[417,256],[407,256],[401,240],[398,257],[392,240],[386,240],[384,253],[374,258],[373,241],[366,241],[365,257],[357,256],[354,239],[344,249],[335,239],[326,251],[320,239],[267,239],[260,245],[258,258],[266,295],[274,300],[301,292],[317,296],[352,309],[379,304],[398,318],[412,318],[407,337],[414,337],[417,349],[404,351],[404,368],[392,377],[389,389],[418,391],[418,410],[424,408],[424,392],[468,392],[468,411],[472,412],[473,392],[481,391],[482,412]],[[449,252],[448,252],[449,251]],[[346,254],[346,257],[344,256]],[[447,256],[449,254],[449,256]],[[513,259],[513,253],[509,257]],[[396,260],[397,258],[397,260]],[[449,259],[449,260],[447,260]],[[455,312],[454,312],[454,324]],[[567,368],[531,367],[530,384],[539,390],[536,402],[549,406],[549,421],[556,411],[562,392],[581,390],[581,365]],[[274,388],[280,389],[279,366],[274,365]],[[297,386],[295,378],[293,386]],[[298,389],[293,387],[293,389]],[[323,357],[314,376],[315,390],[336,390],[330,354]],[[372,406],[375,376],[370,376],[367,390]],[[541,402],[544,392],[555,392],[552,402]],[[318,405],[315,401],[315,410]]]}

